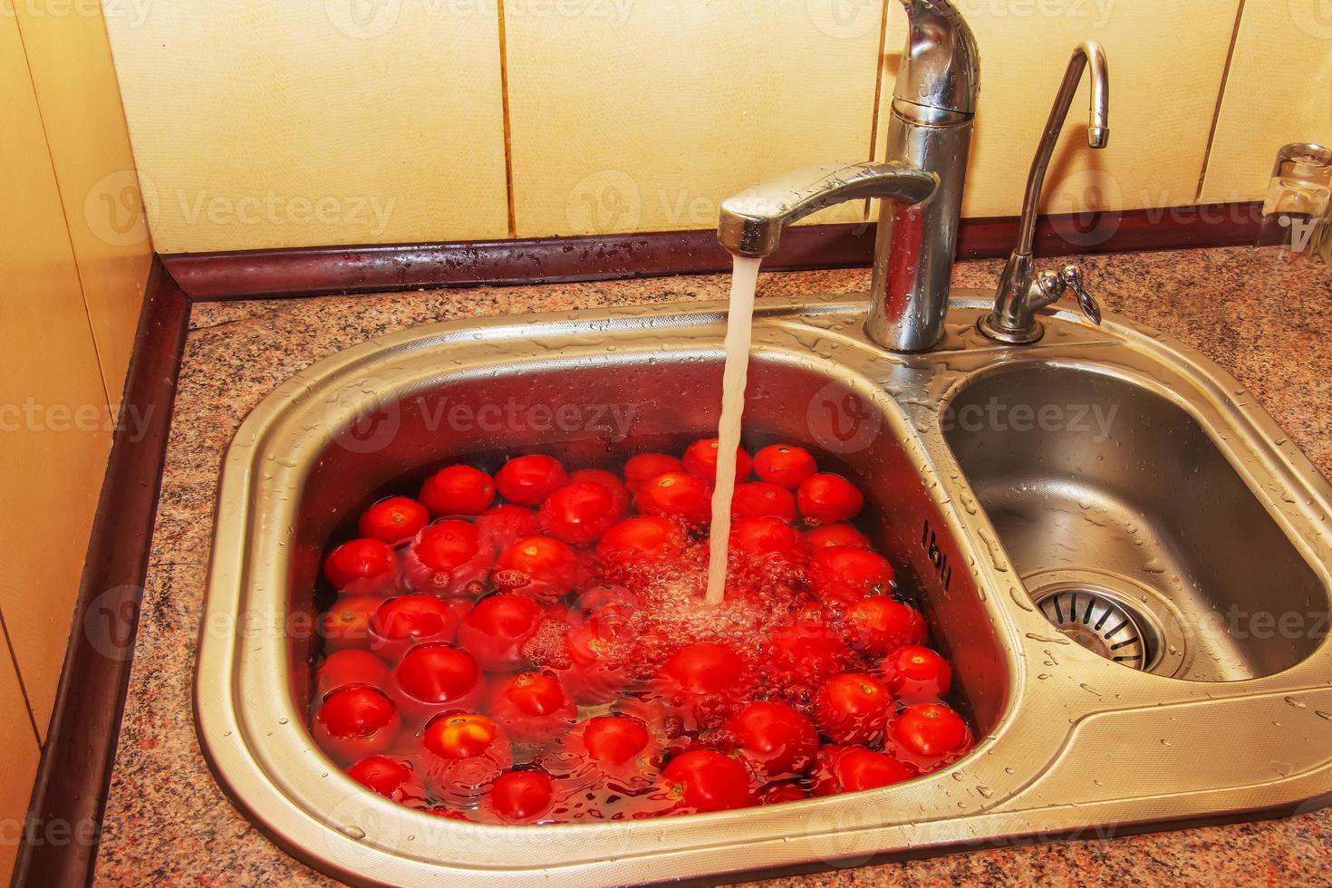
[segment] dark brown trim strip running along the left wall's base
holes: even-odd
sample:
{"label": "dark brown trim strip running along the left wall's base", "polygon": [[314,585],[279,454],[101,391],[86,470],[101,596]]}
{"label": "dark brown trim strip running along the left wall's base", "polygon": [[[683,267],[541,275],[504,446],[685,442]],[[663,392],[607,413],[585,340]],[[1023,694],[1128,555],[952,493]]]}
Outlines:
{"label": "dark brown trim strip running along the left wall's base", "polygon": [[112,438],[15,885],[92,880],[188,324],[189,298],[155,258],[123,407],[143,431],[123,422]]}

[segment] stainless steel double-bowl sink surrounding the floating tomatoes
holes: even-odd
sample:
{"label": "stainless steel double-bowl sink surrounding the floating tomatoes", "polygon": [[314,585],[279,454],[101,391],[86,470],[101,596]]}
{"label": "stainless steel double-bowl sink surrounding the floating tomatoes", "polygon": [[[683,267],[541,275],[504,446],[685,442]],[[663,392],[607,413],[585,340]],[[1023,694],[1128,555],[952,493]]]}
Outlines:
{"label": "stainless steel double-bowl sink surrounding the floating tomatoes", "polygon": [[[767,301],[746,406],[749,445],[807,443],[864,485],[978,728],[952,768],[766,808],[496,827],[365,792],[304,727],[330,534],[448,459],[613,462],[714,429],[723,306],[691,304],[417,328],[254,410],[224,465],[198,655],[218,780],[276,841],[364,884],[698,879],[1327,797],[1332,490],[1187,349],[1067,313],[1039,345],[998,346],[974,329],[990,302],[954,294],[939,350],[890,355],[863,335],[863,297]],[[1103,638],[1124,618],[1132,655]]]}

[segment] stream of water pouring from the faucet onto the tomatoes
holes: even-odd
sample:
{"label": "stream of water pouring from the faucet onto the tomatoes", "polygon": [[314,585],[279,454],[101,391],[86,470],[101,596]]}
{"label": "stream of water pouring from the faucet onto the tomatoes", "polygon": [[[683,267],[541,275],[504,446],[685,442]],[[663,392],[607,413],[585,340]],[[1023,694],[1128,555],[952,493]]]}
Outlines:
{"label": "stream of water pouring from the faucet onto the tomatoes", "polygon": [[726,595],[726,554],[731,538],[731,495],[735,493],[735,450],[741,446],[749,347],[754,334],[754,289],[763,260],[735,257],[731,302],[726,314],[726,370],[722,373],[722,419],[717,430],[717,486],[713,489],[713,525],[709,531],[707,603]]}

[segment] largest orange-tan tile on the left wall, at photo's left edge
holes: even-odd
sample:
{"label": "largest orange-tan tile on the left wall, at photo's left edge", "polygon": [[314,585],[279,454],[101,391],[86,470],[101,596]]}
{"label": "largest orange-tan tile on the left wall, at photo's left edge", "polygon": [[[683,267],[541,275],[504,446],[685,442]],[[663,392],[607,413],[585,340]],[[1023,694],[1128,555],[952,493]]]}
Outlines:
{"label": "largest orange-tan tile on the left wall, at photo's left edge", "polygon": [[51,716],[111,433],[96,347],[19,28],[0,16],[0,610]]}

